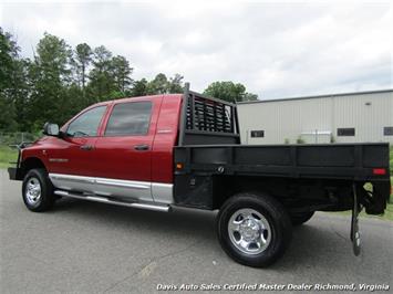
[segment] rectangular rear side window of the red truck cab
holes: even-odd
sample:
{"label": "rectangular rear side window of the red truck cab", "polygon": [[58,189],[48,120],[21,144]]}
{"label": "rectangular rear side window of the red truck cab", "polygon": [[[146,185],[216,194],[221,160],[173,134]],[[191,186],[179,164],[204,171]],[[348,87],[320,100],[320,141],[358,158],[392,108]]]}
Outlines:
{"label": "rectangular rear side window of the red truck cab", "polygon": [[118,103],[113,107],[105,136],[146,135],[151,115],[152,102]]}

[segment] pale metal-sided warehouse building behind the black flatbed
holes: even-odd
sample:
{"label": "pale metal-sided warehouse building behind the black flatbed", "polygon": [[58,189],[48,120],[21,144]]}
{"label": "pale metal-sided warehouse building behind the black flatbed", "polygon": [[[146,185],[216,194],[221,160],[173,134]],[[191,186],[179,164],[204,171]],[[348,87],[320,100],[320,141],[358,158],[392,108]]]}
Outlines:
{"label": "pale metal-sided warehouse building behind the black flatbed", "polygon": [[393,144],[393,90],[238,103],[242,144]]}

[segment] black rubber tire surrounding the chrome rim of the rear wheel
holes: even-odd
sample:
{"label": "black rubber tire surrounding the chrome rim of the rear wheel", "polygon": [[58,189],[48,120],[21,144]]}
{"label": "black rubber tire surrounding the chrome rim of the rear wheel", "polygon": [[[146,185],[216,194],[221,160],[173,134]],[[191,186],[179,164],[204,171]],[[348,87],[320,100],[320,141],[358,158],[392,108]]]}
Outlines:
{"label": "black rubber tire surrounding the chrome rim of the rear wheel", "polygon": [[[257,211],[269,224],[270,241],[259,253],[245,253],[229,237],[228,224],[240,209]],[[240,212],[241,214],[241,212]],[[251,213],[254,216],[254,213]],[[258,219],[258,217],[257,217]],[[240,222],[244,222],[240,217]],[[262,234],[265,235],[265,229]],[[288,248],[292,237],[292,224],[286,209],[272,197],[265,193],[238,193],[229,198],[217,216],[217,234],[224,251],[235,261],[252,267],[265,267],[277,261]],[[239,233],[239,235],[241,235]],[[242,238],[242,237],[241,237]],[[263,237],[266,239],[266,237]]]}

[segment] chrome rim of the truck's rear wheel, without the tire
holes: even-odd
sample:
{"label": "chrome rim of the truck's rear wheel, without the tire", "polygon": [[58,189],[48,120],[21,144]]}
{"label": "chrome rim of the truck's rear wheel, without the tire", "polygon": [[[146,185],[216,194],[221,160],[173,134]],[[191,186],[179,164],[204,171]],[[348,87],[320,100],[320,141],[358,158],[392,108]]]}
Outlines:
{"label": "chrome rim of the truck's rear wheel, without the tire", "polygon": [[263,252],[271,241],[267,219],[255,209],[239,209],[229,219],[228,234],[232,244],[246,254]]}

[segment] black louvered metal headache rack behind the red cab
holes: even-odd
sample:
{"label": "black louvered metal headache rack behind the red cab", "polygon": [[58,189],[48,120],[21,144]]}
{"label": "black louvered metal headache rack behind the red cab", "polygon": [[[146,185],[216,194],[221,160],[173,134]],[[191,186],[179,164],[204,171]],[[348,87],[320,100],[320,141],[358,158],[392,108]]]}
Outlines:
{"label": "black louvered metal headache rack behind the red cab", "polygon": [[185,84],[179,126],[179,146],[239,144],[236,104],[206,97]]}

